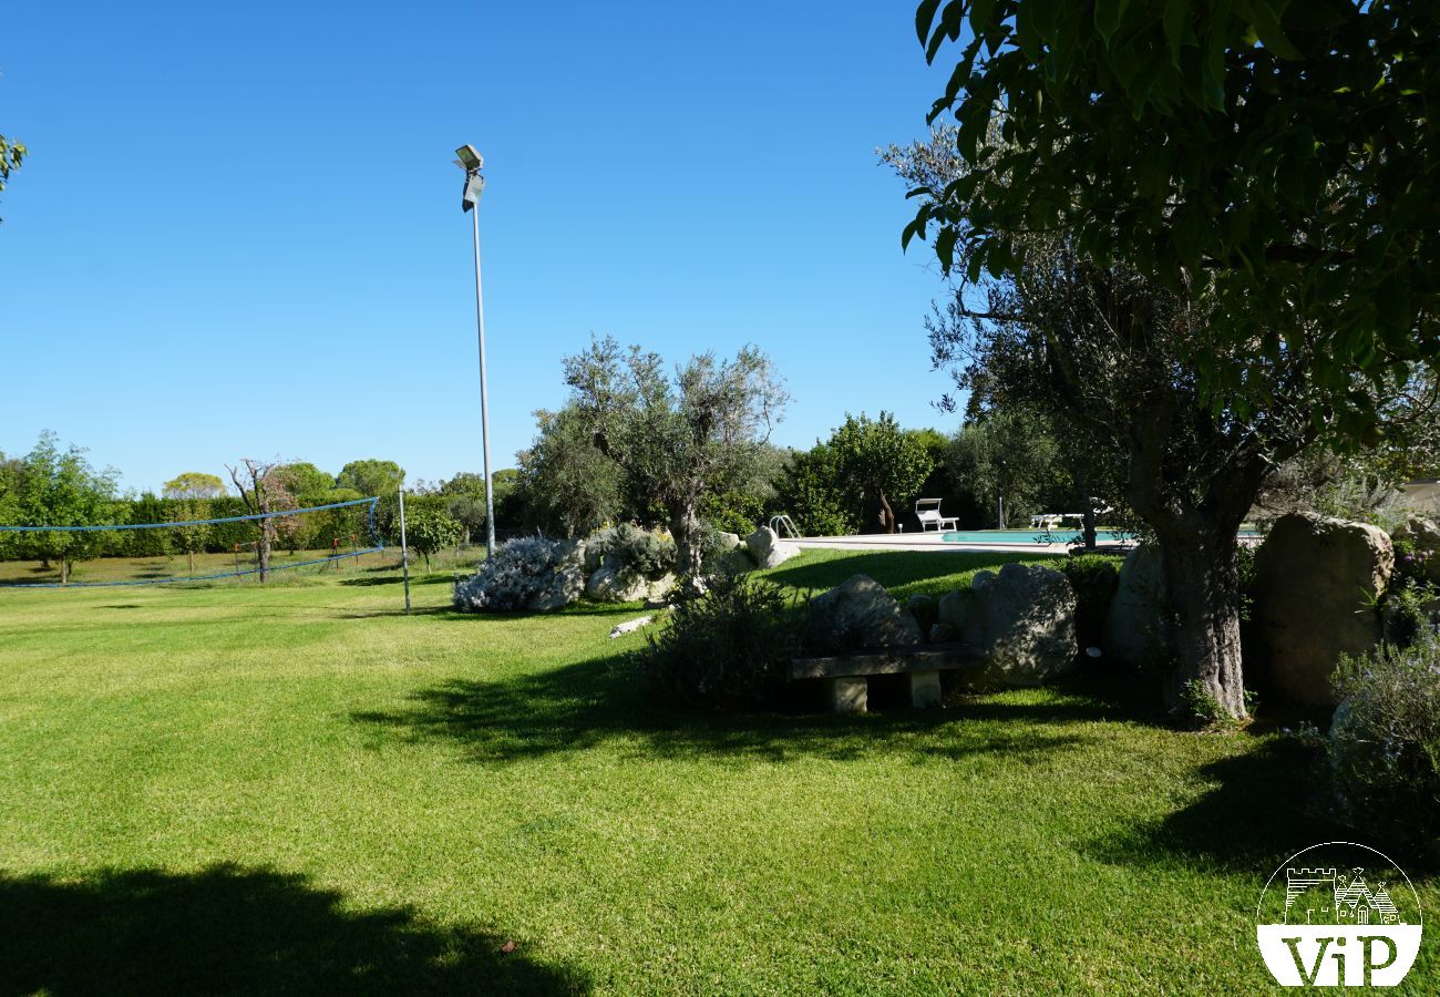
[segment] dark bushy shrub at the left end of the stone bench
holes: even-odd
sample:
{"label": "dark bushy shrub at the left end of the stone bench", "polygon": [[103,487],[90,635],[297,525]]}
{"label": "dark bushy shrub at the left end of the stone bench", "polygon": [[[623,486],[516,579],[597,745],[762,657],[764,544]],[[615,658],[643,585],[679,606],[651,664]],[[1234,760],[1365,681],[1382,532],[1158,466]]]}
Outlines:
{"label": "dark bushy shrub at the left end of the stone bench", "polygon": [[642,656],[657,690],[688,706],[772,703],[799,648],[799,602],[766,581],[721,575],[680,602]]}

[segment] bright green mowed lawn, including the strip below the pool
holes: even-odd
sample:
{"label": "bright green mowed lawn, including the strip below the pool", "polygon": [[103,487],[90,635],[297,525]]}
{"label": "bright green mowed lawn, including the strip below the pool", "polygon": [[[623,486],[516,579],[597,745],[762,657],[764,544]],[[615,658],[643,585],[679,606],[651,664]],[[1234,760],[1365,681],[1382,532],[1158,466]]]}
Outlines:
{"label": "bright green mowed lawn, including the strip below the pool", "polygon": [[0,994],[1246,993],[1261,886],[1332,831],[1293,742],[1172,732],[1115,683],[678,713],[606,638],[634,607],[413,591],[0,591]]}

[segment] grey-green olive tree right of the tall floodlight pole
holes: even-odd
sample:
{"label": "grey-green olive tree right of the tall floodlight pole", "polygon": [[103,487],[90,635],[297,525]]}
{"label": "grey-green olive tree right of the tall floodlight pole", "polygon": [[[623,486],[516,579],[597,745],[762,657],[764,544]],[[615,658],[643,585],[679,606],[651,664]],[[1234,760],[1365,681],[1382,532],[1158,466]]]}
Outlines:
{"label": "grey-green olive tree right of the tall floodlight pole", "polygon": [[606,337],[566,357],[564,380],[628,491],[665,510],[677,569],[697,572],[701,501],[755,478],[789,401],[769,357],[746,346],[732,360],[701,353],[670,373],[660,354]]}

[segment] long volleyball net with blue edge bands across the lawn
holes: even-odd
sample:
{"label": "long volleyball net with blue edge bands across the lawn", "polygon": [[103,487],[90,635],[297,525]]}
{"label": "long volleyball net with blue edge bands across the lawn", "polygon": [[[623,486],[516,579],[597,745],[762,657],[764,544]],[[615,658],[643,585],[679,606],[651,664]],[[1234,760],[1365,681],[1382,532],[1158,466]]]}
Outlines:
{"label": "long volleyball net with blue edge bands across the lawn", "polygon": [[[193,516],[203,500],[167,503],[168,522],[0,524],[0,588],[264,582],[271,575],[360,566],[382,555],[379,498],[236,516]],[[379,558],[374,559],[379,562]]]}

